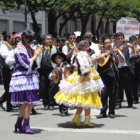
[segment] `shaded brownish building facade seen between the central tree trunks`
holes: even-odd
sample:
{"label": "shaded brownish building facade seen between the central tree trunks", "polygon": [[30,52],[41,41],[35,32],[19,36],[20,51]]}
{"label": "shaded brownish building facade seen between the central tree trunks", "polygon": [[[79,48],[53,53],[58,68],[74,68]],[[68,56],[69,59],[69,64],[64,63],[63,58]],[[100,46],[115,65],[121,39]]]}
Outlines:
{"label": "shaded brownish building facade seen between the central tree trunks", "polygon": [[[60,28],[60,23],[63,22],[63,18],[59,18],[58,22],[57,22],[57,28],[56,28],[56,32],[59,32],[59,28]],[[97,30],[97,26],[98,23],[100,21],[100,16],[95,15],[95,16],[90,16],[89,20],[87,22],[86,25],[86,31],[90,31],[93,34],[96,34],[96,30]],[[67,24],[64,26],[63,30],[62,30],[62,35],[63,34],[70,34],[73,33],[75,31],[81,31],[82,27],[81,27],[81,20],[80,18],[78,18],[77,16],[74,16],[73,19],[69,20],[67,22]],[[106,31],[105,31],[106,30]],[[99,33],[114,33],[114,25],[113,22],[107,22],[107,20],[105,18],[103,18],[102,23],[101,23],[101,27],[99,29]]]}

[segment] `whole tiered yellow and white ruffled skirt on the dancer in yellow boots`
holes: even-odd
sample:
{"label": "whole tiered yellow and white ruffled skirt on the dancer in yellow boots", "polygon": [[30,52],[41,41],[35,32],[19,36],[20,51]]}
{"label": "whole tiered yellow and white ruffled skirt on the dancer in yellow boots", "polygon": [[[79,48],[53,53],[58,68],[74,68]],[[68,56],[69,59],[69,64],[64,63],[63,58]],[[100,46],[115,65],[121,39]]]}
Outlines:
{"label": "whole tiered yellow and white ruffled skirt on the dancer in yellow boots", "polygon": [[97,91],[101,91],[103,87],[103,82],[94,67],[87,77],[75,71],[60,81],[60,91],[54,98],[58,104],[66,106],[100,109],[102,103]]}

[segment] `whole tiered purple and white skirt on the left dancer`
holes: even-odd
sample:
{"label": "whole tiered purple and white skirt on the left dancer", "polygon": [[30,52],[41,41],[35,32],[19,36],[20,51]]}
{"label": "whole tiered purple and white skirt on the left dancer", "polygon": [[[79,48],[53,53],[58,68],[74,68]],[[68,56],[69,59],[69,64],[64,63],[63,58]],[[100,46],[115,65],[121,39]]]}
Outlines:
{"label": "whole tiered purple and white skirt on the left dancer", "polygon": [[11,104],[24,104],[39,102],[39,80],[37,74],[26,75],[27,72],[15,72],[10,81]]}

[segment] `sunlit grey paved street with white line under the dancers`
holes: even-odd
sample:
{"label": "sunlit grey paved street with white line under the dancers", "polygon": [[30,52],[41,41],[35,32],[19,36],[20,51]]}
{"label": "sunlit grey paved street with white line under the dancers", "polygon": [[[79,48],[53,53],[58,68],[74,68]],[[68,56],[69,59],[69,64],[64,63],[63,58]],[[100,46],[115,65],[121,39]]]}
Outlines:
{"label": "sunlit grey paved street with white line under the dancers", "polygon": [[[0,95],[3,86],[0,85]],[[4,104],[5,106],[5,104]],[[68,117],[60,117],[58,107],[53,111],[44,111],[42,102],[36,107],[38,115],[31,115],[31,127],[34,135],[13,133],[18,111],[5,112],[0,109],[0,140],[139,140],[140,104],[127,108],[124,101],[122,109],[116,110],[116,118],[97,119],[98,110],[92,110],[92,122],[95,128],[73,128],[71,125],[75,110],[69,110]],[[82,120],[84,114],[82,114]]]}

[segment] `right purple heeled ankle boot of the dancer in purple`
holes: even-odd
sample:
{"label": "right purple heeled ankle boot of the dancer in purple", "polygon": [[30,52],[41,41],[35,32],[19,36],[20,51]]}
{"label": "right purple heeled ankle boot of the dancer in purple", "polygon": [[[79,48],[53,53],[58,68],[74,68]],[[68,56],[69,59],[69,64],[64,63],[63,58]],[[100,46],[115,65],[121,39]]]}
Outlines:
{"label": "right purple heeled ankle boot of the dancer in purple", "polygon": [[26,134],[34,134],[34,132],[31,130],[30,126],[29,126],[29,118],[26,119],[24,118],[24,123],[22,126],[22,132],[26,133]]}

